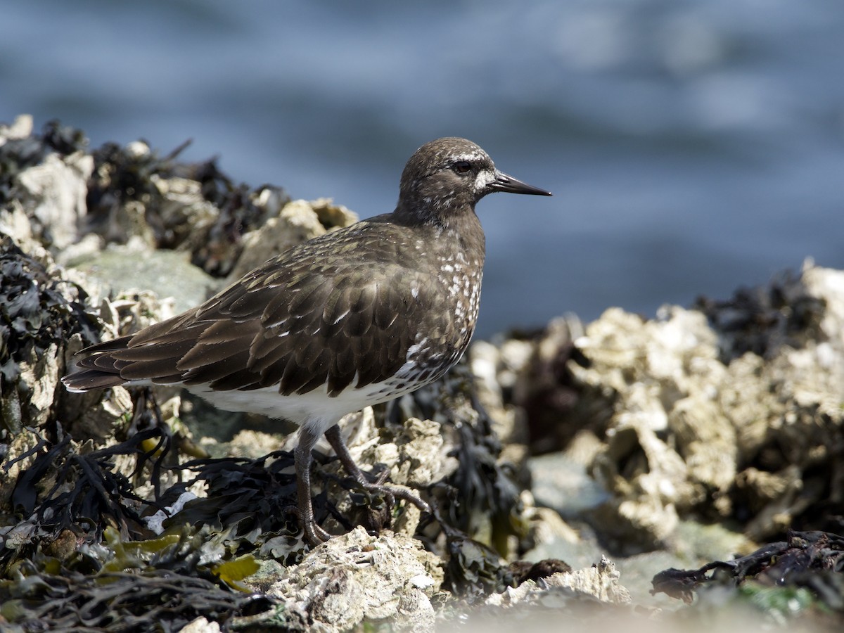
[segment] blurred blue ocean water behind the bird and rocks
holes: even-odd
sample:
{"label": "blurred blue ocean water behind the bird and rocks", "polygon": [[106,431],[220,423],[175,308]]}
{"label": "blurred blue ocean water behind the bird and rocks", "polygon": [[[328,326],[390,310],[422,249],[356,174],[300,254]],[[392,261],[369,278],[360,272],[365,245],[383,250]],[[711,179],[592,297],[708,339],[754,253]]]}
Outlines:
{"label": "blurred blue ocean water behind the bird and rocks", "polygon": [[844,268],[840,0],[30,0],[0,121],[146,139],[294,197],[392,210],[444,135],[555,192],[479,204],[479,335]]}

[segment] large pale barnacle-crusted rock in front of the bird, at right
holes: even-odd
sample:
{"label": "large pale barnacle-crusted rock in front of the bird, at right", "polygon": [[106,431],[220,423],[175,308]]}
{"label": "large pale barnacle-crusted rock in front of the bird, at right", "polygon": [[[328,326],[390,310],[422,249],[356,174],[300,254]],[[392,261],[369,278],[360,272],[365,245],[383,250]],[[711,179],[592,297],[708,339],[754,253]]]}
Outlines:
{"label": "large pale barnacle-crusted rock in front of the bird, at right", "polygon": [[748,509],[747,535],[767,538],[825,495],[844,500],[828,484],[842,476],[829,447],[844,441],[844,273],[808,264],[800,278],[701,306],[650,321],[608,310],[574,340],[585,360],[565,374],[548,367],[571,356],[567,328],[535,343],[526,376],[569,377],[526,402],[574,388],[565,421],[582,416],[604,436],[590,472],[611,497],[588,516],[617,551],[669,545],[681,517]]}

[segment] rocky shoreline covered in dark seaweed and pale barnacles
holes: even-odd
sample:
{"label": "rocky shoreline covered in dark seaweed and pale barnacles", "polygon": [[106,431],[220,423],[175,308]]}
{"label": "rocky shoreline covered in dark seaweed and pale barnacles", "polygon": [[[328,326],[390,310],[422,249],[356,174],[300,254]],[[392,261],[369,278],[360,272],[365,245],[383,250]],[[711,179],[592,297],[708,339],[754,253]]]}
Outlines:
{"label": "rocky shoreline covered in dark seaweed and pale barnacles", "polygon": [[344,422],[433,516],[317,446],[338,536],[308,551],[283,423],[58,381],[84,345],[356,220],[177,159],[0,127],[0,629],[840,629],[844,272],[474,343]]}

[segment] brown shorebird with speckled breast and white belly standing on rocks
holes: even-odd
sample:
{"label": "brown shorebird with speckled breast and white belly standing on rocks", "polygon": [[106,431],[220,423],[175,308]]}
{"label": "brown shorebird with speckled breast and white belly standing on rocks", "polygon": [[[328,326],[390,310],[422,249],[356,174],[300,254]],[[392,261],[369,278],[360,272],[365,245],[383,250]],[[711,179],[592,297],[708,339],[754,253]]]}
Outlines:
{"label": "brown shorebird with speckled breast and white belly standing on rocks", "polygon": [[404,167],[392,213],[302,242],[200,306],[82,349],[62,382],[69,392],[176,385],[217,408],[296,423],[296,514],[313,546],[330,538],[311,501],[311,451],[323,434],[360,485],[428,510],[409,490],[367,479],[338,422],[460,360],[484,269],[475,204],[493,192],[552,195],[496,169],[465,138],[425,143]]}

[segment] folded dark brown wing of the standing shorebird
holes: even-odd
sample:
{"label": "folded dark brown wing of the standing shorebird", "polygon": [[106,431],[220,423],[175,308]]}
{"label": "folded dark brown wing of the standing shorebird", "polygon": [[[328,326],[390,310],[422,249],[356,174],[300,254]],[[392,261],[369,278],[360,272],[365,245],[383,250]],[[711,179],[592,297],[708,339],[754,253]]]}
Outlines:
{"label": "folded dark brown wing of the standing shorebird", "polygon": [[387,379],[407,360],[421,320],[431,318],[430,279],[377,243],[369,252],[329,257],[344,244],[308,242],[192,311],[84,349],[81,371],[66,384],[278,384],[285,395],[327,384],[336,395]]}

